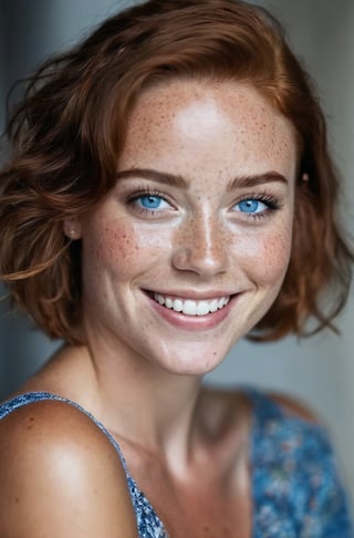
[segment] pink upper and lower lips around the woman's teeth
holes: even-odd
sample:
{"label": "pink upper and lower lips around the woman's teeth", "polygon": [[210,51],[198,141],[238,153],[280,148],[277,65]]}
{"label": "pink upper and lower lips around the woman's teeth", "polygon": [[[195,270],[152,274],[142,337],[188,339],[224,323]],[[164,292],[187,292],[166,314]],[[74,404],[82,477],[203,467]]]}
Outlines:
{"label": "pink upper and lower lips around the woman's teeth", "polygon": [[239,293],[225,293],[225,292],[217,292],[217,293],[204,293],[202,296],[196,292],[191,293],[163,293],[158,292],[163,296],[174,297],[174,298],[183,298],[185,300],[192,299],[192,300],[210,300],[214,298],[220,298],[230,296],[229,302],[222,308],[217,310],[216,312],[210,312],[206,315],[186,315],[181,312],[176,312],[173,309],[168,309],[154,299],[154,293],[147,290],[145,291],[145,296],[147,297],[152,308],[154,311],[163,318],[164,321],[167,321],[170,325],[175,328],[183,329],[186,331],[206,331],[216,329],[223,320],[228,317],[230,309],[233,306],[235,300],[239,297]]}

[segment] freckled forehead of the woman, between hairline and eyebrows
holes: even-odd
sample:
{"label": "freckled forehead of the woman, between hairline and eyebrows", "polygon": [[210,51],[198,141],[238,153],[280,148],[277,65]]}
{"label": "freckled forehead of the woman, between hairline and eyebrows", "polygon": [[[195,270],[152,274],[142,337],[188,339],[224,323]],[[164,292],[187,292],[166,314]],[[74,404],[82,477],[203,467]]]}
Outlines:
{"label": "freckled forehead of the woman, between hairline and eyebrows", "polygon": [[290,121],[251,85],[177,80],[139,97],[121,165],[148,166],[154,157],[166,167],[171,159],[181,164],[185,156],[186,165],[206,167],[219,159],[223,168],[241,166],[244,173],[273,164],[295,167],[295,141]]}

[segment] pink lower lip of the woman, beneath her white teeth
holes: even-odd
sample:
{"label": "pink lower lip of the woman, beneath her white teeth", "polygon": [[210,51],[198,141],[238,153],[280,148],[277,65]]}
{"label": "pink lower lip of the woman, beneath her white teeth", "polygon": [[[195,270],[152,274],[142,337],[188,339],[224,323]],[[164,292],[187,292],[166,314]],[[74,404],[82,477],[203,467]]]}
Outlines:
{"label": "pink lower lip of the woman, beneath her white teeth", "polygon": [[176,312],[173,309],[163,307],[147,294],[154,310],[164,320],[171,325],[186,331],[205,331],[217,328],[228,317],[231,304],[233,303],[236,297],[237,296],[233,296],[228,304],[216,312],[210,312],[206,315],[186,315],[183,312]]}

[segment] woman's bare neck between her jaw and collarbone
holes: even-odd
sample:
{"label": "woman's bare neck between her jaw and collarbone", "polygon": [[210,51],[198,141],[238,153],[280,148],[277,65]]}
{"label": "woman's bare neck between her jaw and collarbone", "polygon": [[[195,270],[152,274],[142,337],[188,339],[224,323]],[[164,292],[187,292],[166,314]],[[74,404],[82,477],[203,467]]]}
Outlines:
{"label": "woman's bare neck between her jaw and collarbone", "polygon": [[83,351],[94,379],[87,405],[112,433],[149,451],[168,454],[173,445],[175,454],[188,453],[201,376],[171,374],[146,359],[112,353],[111,346]]}

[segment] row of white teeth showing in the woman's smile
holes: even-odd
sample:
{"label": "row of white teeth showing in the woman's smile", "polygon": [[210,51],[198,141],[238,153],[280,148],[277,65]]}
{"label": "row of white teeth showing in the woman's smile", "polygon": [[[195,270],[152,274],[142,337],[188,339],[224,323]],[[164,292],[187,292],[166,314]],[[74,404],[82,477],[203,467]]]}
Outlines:
{"label": "row of white teeth showing in the woman's smile", "polygon": [[162,296],[160,293],[154,293],[153,297],[154,300],[163,307],[174,310],[175,312],[181,312],[185,315],[207,315],[216,312],[217,310],[221,310],[230,300],[230,296],[206,299],[201,301],[180,298],[173,299],[171,297]]}

